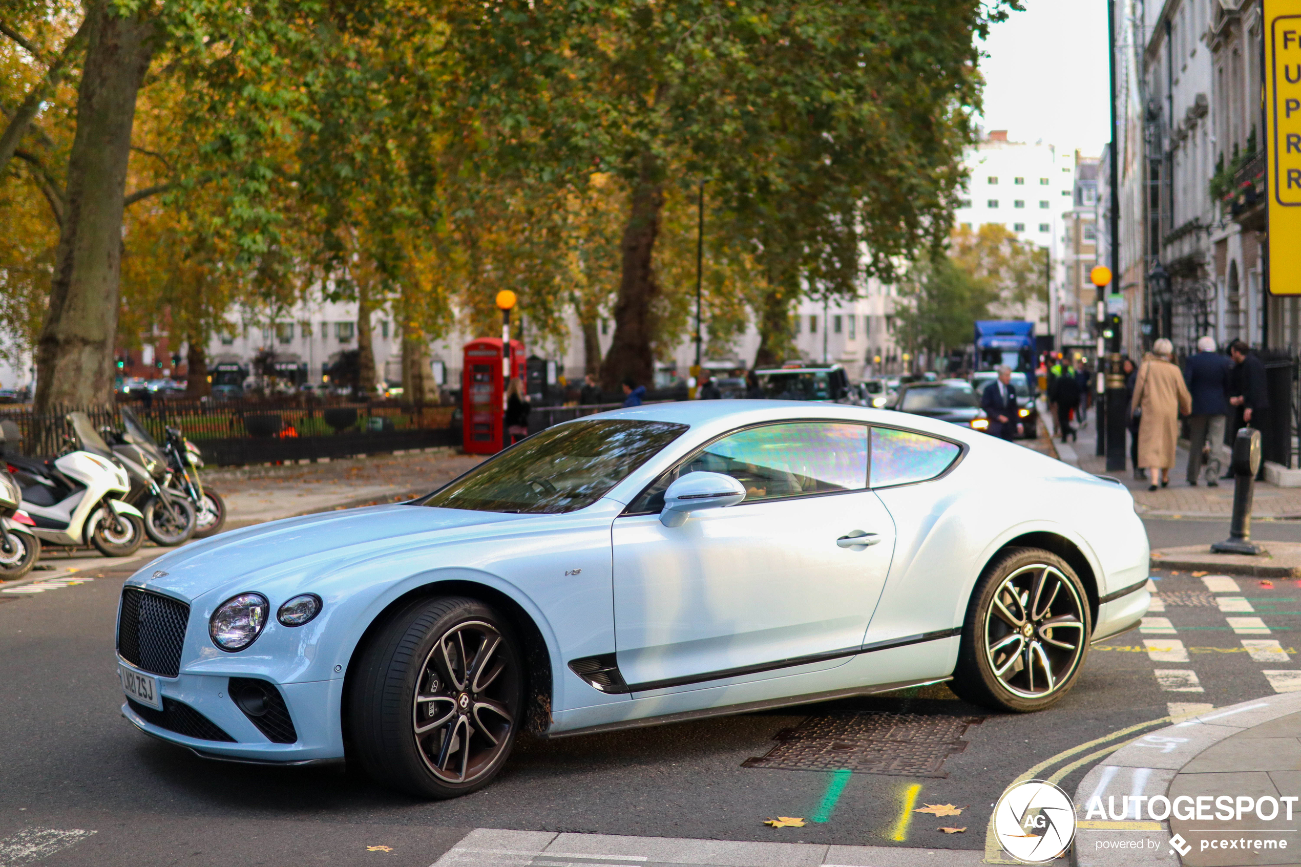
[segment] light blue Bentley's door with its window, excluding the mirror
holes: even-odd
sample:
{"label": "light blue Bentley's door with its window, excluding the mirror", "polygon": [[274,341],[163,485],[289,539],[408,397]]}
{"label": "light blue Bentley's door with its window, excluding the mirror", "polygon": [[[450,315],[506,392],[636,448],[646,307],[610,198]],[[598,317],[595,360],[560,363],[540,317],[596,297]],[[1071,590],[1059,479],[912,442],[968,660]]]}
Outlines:
{"label": "light blue Bentley's door with its window, excluding the mirror", "polygon": [[[742,429],[703,447],[615,519],[615,643],[632,692],[779,677],[853,654],[895,539],[866,487],[866,448],[868,428],[857,424]],[[664,526],[664,489],[693,471],[738,478],[747,498]]]}

